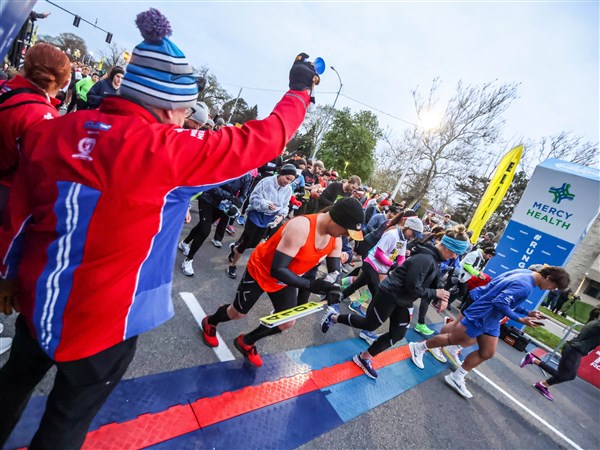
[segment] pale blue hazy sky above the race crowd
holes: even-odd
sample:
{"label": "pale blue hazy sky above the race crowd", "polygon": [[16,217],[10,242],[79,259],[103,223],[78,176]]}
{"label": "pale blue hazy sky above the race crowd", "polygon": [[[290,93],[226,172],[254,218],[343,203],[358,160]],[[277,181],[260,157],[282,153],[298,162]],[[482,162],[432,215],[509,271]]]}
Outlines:
{"label": "pale blue hazy sky above the race crowd", "polygon": [[[191,64],[207,66],[232,96],[243,86],[242,97],[261,117],[287,89],[291,63],[304,51],[328,66],[318,103],[334,102],[334,66],[343,82],[336,108],[376,108],[386,113],[371,109],[380,124],[398,137],[416,122],[411,90],[425,94],[437,77],[442,99],[459,80],[521,83],[504,114],[507,141],[562,131],[599,140],[598,1],[55,3],[98,19],[130,50],[142,40],[136,14],[159,9]],[[73,27],[72,16],[43,0],[34,10],[51,12],[37,22],[38,34],[76,33],[96,53],[106,45],[105,33],[83,22]]]}

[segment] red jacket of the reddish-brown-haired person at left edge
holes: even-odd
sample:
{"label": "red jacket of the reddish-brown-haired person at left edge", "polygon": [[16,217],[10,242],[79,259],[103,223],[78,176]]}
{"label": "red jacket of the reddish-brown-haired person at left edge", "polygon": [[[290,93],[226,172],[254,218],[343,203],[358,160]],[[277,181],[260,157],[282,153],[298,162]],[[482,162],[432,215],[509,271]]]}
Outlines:
{"label": "red jacket of the reddish-brown-haired person at left edge", "polygon": [[1,85],[0,94],[20,88],[37,93],[22,92],[0,103],[0,184],[6,187],[19,165],[18,140],[32,125],[59,116],[55,105],[60,102],[20,75]]}

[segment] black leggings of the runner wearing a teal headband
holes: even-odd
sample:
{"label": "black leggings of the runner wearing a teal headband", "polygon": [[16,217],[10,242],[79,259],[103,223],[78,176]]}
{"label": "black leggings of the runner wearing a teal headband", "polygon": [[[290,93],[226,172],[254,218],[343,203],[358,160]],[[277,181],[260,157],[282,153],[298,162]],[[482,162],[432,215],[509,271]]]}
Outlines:
{"label": "black leggings of the runner wearing a teal headband", "polygon": [[338,323],[360,330],[374,331],[389,318],[389,331],[379,336],[369,347],[371,356],[376,356],[402,340],[406,335],[406,329],[410,324],[411,310],[412,308],[397,305],[394,303],[393,295],[378,289],[369,304],[366,317],[357,314],[341,314],[338,316]]}

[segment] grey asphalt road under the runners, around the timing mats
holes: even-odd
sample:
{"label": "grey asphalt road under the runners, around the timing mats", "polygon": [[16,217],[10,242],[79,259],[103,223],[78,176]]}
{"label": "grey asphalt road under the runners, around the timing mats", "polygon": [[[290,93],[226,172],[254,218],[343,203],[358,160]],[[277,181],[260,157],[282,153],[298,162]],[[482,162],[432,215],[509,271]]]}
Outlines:
{"label": "grey asphalt road under the runners, around the timing mats", "polygon": [[[185,227],[184,236],[189,228]],[[237,228],[239,234],[240,227]],[[196,254],[194,277],[181,273],[182,255],[178,252],[173,281],[176,315],[163,326],[140,336],[126,378],[219,361],[215,352],[203,345],[199,327],[180,293],[192,293],[206,313],[232,301],[237,280],[225,275],[227,244],[232,240],[226,236],[223,248],[217,249],[207,239]],[[240,269],[238,279],[241,274]],[[232,345],[233,339],[252,330],[258,318],[270,311],[270,301],[265,296],[246,319],[219,326],[218,331],[234,357],[240,355]],[[13,333],[14,319],[14,315],[0,316],[0,322],[6,325],[4,336]],[[342,326],[323,335],[317,326],[319,319],[319,314],[300,319],[294,329],[259,342],[259,351],[278,353],[356,336],[352,329]],[[429,319],[441,320],[432,309]],[[304,448],[600,448],[600,390],[576,379],[553,388],[555,401],[549,402],[531,387],[542,379],[538,368],[519,369],[522,355],[501,343],[496,357],[478,369],[502,391],[478,374],[470,374],[468,383],[474,398],[467,401],[449,389],[443,375],[439,375]],[[0,356],[0,365],[6,357],[7,354]],[[35,393],[48,394],[52,378],[53,371]],[[517,406],[503,391],[527,410]]]}

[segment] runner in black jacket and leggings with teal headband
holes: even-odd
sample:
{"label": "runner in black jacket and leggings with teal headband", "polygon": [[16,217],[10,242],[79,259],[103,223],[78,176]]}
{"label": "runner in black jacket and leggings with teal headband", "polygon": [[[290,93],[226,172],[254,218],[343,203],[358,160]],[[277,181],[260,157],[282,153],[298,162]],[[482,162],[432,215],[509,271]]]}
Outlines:
{"label": "runner in black jacket and leggings with teal headband", "polygon": [[321,331],[327,331],[336,323],[353,328],[373,331],[390,319],[389,331],[381,335],[367,350],[352,359],[365,375],[377,378],[373,367],[373,357],[387,350],[405,335],[412,315],[412,305],[416,299],[448,301],[449,293],[437,289],[439,285],[439,264],[462,254],[467,248],[467,234],[461,225],[446,231],[442,240],[432,246],[417,245],[410,258],[381,282],[375,298],[371,301],[367,316],[338,314],[327,308],[321,321]]}

